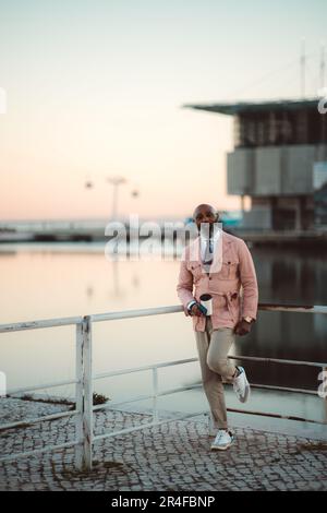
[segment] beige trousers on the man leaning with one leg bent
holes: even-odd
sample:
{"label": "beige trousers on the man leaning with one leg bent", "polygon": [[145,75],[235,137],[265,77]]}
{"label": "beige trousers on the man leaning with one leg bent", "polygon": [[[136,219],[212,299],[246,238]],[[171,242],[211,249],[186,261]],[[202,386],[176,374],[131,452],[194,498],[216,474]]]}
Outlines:
{"label": "beige trousers on the man leaning with one leg bent", "polygon": [[234,343],[235,334],[231,327],[213,330],[211,318],[206,318],[205,332],[194,332],[198,359],[201,365],[202,381],[207,396],[213,427],[227,429],[227,410],[222,379],[232,382],[235,366],[227,355]]}

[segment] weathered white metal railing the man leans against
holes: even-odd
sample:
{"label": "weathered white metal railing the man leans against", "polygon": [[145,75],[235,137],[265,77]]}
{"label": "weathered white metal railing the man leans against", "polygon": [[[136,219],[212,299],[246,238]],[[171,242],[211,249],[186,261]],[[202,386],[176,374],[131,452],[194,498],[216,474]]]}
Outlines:
{"label": "weathered white metal railing the man leans against", "polygon": [[[267,310],[267,311],[293,311],[293,312],[302,312],[302,313],[324,313],[324,314],[327,313],[327,307],[325,306],[300,307],[300,306],[259,303],[258,309]],[[175,416],[169,419],[167,418],[159,419],[158,397],[202,387],[202,384],[194,384],[194,385],[189,385],[189,386],[179,386],[174,389],[159,391],[159,386],[158,386],[159,369],[165,368],[165,367],[171,367],[171,366],[178,366],[178,365],[184,365],[184,363],[197,361],[197,358],[167,361],[167,362],[161,362],[161,363],[156,363],[156,365],[147,365],[143,367],[111,371],[111,372],[104,372],[104,373],[93,375],[92,324],[94,322],[104,322],[104,321],[112,321],[112,320],[118,320],[118,319],[131,319],[131,318],[148,317],[148,315],[159,315],[159,314],[167,314],[167,313],[177,313],[177,312],[182,312],[182,311],[183,311],[182,306],[170,306],[170,307],[159,307],[159,308],[147,308],[147,309],[142,309],[142,310],[109,312],[109,313],[84,315],[84,317],[1,324],[0,333],[11,333],[11,332],[23,331],[23,330],[36,330],[36,329],[41,329],[41,327],[44,329],[44,327],[55,327],[55,326],[63,326],[63,325],[65,326],[75,325],[76,327],[76,346],[75,346],[76,365],[75,365],[75,379],[74,380],[46,383],[41,385],[28,386],[26,389],[15,389],[15,390],[10,390],[7,393],[7,395],[10,395],[13,393],[22,393],[22,392],[27,392],[27,391],[51,389],[51,387],[62,386],[66,384],[75,384],[75,408],[73,410],[37,417],[37,418],[28,419],[25,421],[16,421],[16,422],[9,422],[9,423],[0,425],[0,433],[1,433],[1,431],[3,430],[16,428],[16,427],[24,427],[26,425],[29,426],[32,423],[37,423],[41,421],[50,421],[55,419],[57,420],[60,418],[74,416],[75,417],[75,439],[71,442],[66,442],[62,444],[56,444],[56,445],[37,449],[34,451],[7,455],[0,458],[0,463],[14,461],[23,456],[31,456],[35,454],[45,453],[45,452],[51,452],[51,451],[56,451],[60,449],[75,448],[76,467],[80,469],[82,468],[90,469],[92,462],[93,462],[93,444],[94,442],[98,440],[104,440],[106,438],[133,432],[133,431],[145,429],[148,427],[159,426],[166,422],[183,420],[190,417],[195,417],[196,415],[203,415],[205,413],[207,414],[208,410],[206,409],[205,411],[197,411],[197,413]],[[327,363],[323,363],[323,362],[282,360],[282,359],[277,359],[277,358],[258,358],[258,357],[245,357],[245,356],[229,356],[229,358],[237,359],[237,360],[251,360],[251,361],[256,361],[256,362],[262,361],[262,362],[281,363],[281,365],[310,366],[310,367],[320,368],[322,370],[327,370]],[[153,372],[153,393],[152,394],[138,395],[138,396],[132,397],[123,402],[116,402],[116,403],[110,402],[109,404],[101,404],[97,406],[93,405],[93,381],[94,380],[100,380],[104,378],[111,378],[114,375],[122,375],[122,374],[129,374],[132,372],[148,371],[148,370],[152,370]],[[269,390],[288,391],[288,392],[302,392],[306,394],[317,394],[316,391],[302,390],[302,389],[291,389],[291,387],[281,387],[281,386],[253,384],[253,383],[251,384],[251,386],[264,387],[264,389],[269,389]],[[94,436],[94,427],[93,427],[94,411],[110,408],[112,406],[122,405],[125,403],[143,401],[143,399],[153,399],[153,420],[150,422],[142,423],[141,426],[134,426],[131,428],[120,429],[118,431],[107,432],[107,433],[99,434],[99,436]],[[314,419],[305,419],[305,418],[300,418],[300,417],[294,417],[294,416],[284,416],[284,415],[279,415],[279,414],[271,414],[268,411],[266,413],[265,411],[251,411],[251,410],[243,410],[243,409],[235,409],[235,408],[228,408],[228,410],[250,414],[250,415],[264,415],[264,416],[276,417],[276,418],[288,418],[288,419],[302,420],[302,421],[307,421],[307,422],[326,423],[326,422],[319,422]]]}

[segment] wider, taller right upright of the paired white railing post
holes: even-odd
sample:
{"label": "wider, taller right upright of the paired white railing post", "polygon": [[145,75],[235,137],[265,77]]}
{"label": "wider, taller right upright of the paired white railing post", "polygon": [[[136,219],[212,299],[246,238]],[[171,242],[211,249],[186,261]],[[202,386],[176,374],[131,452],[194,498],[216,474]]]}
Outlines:
{"label": "wider, taller right upright of the paired white railing post", "polygon": [[93,460],[93,380],[92,380],[92,317],[85,315],[82,322],[82,361],[83,361],[83,457],[82,468],[92,469]]}

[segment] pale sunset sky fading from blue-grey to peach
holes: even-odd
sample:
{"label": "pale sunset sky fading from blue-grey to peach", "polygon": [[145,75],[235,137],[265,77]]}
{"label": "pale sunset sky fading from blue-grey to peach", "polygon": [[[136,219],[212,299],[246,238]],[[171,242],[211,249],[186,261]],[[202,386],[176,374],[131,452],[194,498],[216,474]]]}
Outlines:
{"label": "pale sunset sky fading from blue-grey to peach", "polygon": [[106,217],[114,175],[124,216],[239,207],[231,119],[181,106],[298,97],[302,38],[316,96],[326,19],[326,0],[0,0],[0,220]]}

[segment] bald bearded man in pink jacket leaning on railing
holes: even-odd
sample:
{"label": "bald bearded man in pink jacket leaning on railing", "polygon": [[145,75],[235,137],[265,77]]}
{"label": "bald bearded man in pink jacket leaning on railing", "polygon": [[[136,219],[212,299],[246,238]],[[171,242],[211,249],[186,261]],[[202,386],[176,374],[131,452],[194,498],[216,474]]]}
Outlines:
{"label": "bald bearded man in pink jacket leaning on railing", "polygon": [[[250,333],[256,321],[258,288],[247,246],[219,227],[218,212],[201,204],[193,219],[198,237],[184,250],[177,291],[185,315],[193,318],[203,385],[217,433],[211,450],[226,450],[234,437],[228,428],[222,379],[233,384],[242,403],[250,395],[245,370],[227,356],[235,335]],[[208,317],[198,307],[203,294],[213,297]]]}

